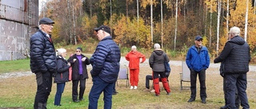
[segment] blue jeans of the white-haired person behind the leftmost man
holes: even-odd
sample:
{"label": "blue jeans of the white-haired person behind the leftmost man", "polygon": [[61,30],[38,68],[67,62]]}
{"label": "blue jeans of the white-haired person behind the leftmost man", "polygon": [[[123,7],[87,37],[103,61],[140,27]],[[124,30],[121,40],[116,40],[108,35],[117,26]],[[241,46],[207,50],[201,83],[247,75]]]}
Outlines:
{"label": "blue jeans of the white-haired person behind the leftmost man", "polygon": [[57,91],[54,99],[54,105],[60,105],[61,104],[61,99],[62,99],[62,93],[64,91],[66,83],[59,83],[57,84]]}

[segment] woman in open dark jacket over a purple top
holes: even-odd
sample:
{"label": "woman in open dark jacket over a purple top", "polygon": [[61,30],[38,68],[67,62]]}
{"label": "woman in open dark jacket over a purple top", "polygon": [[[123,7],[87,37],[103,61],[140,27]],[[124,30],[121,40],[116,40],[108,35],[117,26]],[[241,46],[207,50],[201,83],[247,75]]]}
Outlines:
{"label": "woman in open dark jacket over a purple top", "polygon": [[[76,53],[67,60],[72,66],[72,99],[74,102],[84,100],[83,95],[86,90],[86,79],[88,72],[86,65],[90,64],[89,58],[82,54],[82,48],[78,47]],[[78,100],[78,83],[79,85],[79,100]]]}

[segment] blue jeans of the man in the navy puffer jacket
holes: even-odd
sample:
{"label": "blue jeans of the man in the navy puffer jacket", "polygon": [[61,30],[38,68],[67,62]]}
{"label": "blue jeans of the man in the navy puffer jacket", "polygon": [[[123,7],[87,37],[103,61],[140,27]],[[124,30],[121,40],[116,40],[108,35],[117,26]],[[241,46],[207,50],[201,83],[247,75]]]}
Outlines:
{"label": "blue jeans of the man in the navy puffer jacket", "polygon": [[112,107],[112,91],[114,83],[106,83],[98,76],[93,76],[93,86],[90,89],[89,94],[89,109],[97,109],[98,108],[98,98],[102,94],[104,94],[104,109],[111,109]]}

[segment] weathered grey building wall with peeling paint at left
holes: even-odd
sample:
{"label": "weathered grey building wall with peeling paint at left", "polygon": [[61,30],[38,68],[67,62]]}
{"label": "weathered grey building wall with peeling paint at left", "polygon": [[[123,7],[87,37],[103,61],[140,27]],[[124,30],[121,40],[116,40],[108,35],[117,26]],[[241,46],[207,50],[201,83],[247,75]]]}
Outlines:
{"label": "weathered grey building wall with peeling paint at left", "polygon": [[0,0],[0,60],[28,56],[38,29],[38,0]]}

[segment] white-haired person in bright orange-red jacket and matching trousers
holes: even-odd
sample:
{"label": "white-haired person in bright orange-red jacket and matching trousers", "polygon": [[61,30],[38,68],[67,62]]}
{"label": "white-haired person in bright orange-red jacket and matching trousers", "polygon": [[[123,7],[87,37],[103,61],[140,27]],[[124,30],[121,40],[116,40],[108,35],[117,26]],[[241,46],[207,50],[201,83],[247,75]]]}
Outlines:
{"label": "white-haired person in bright orange-red jacket and matching trousers", "polygon": [[137,51],[137,47],[135,45],[133,45],[131,47],[131,51],[126,54],[126,60],[129,61],[130,68],[130,89],[138,88],[138,73],[141,58],[141,63],[143,63],[146,60],[146,57]]}

